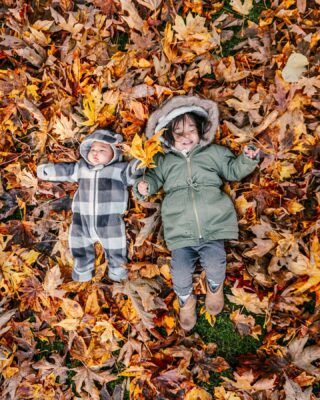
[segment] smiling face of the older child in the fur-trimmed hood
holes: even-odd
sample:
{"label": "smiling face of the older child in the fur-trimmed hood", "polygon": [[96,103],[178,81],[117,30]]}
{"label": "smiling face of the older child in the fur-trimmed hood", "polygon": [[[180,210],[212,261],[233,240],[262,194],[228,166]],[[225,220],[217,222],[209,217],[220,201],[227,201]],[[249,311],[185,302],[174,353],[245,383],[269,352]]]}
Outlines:
{"label": "smiling face of the older child in the fur-trimmed hood", "polygon": [[189,116],[179,121],[172,133],[177,150],[190,151],[200,141],[196,123]]}

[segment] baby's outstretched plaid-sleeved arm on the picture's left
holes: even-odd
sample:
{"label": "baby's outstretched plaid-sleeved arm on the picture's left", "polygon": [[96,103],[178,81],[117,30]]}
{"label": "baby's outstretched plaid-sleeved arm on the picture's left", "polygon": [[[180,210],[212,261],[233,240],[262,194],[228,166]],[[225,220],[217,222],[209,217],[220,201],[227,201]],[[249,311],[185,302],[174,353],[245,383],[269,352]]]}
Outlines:
{"label": "baby's outstretched plaid-sleeved arm on the picture's left", "polygon": [[38,165],[37,176],[53,182],[77,182],[78,163],[47,163]]}

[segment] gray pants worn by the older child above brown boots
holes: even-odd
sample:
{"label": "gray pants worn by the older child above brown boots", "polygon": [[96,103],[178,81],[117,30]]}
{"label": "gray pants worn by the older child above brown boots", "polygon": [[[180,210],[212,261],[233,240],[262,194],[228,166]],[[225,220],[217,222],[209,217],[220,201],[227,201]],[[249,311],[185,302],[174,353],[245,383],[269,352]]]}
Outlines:
{"label": "gray pants worn by the older child above brown boots", "polygon": [[171,275],[173,290],[179,297],[192,293],[192,275],[196,262],[206,271],[210,286],[222,283],[226,275],[226,251],[224,240],[200,240],[198,246],[172,250]]}

